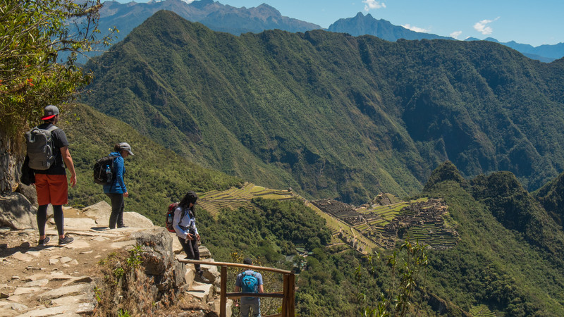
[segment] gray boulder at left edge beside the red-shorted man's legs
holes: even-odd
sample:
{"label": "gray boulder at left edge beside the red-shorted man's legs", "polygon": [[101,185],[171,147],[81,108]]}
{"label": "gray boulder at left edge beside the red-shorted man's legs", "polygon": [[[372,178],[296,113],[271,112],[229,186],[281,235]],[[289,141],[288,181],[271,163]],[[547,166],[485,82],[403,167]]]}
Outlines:
{"label": "gray boulder at left edge beside the red-shorted man's legs", "polygon": [[0,226],[12,229],[37,228],[37,209],[23,194],[12,192],[0,196]]}

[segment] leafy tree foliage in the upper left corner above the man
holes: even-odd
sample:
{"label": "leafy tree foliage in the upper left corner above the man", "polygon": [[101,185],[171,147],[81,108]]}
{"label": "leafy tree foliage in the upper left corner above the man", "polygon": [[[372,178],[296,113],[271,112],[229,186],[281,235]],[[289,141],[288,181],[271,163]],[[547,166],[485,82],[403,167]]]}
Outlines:
{"label": "leafy tree foliage in the upper left corner above the man", "polygon": [[[92,76],[75,66],[78,54],[110,35],[94,36],[99,1],[0,1],[0,130],[16,142],[47,104],[65,103]],[[70,52],[57,63],[59,52]]]}

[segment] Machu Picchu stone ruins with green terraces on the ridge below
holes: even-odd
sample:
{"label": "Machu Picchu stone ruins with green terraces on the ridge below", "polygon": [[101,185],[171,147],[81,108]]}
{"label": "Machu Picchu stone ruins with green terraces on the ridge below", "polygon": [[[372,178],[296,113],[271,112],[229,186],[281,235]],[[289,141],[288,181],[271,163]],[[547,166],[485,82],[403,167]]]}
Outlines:
{"label": "Machu Picchu stone ruins with green terraces on the ridge below", "polygon": [[333,199],[312,201],[312,205],[348,226],[349,230],[341,226],[333,229],[333,236],[361,252],[373,247],[392,249],[407,237],[433,249],[448,249],[458,243],[457,224],[442,199],[402,201],[382,193],[358,207]]}

